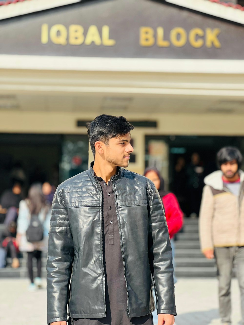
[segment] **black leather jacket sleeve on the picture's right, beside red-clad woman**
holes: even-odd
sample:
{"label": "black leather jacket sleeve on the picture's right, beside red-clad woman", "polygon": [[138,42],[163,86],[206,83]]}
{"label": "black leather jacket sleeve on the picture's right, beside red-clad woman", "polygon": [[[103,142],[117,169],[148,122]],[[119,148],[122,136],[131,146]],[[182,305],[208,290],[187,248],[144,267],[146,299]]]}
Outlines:
{"label": "black leather jacket sleeve on the picture's right, beside red-clad woman", "polygon": [[172,249],[162,200],[152,185],[149,193],[148,255],[154,280],[157,314],[176,315]]}

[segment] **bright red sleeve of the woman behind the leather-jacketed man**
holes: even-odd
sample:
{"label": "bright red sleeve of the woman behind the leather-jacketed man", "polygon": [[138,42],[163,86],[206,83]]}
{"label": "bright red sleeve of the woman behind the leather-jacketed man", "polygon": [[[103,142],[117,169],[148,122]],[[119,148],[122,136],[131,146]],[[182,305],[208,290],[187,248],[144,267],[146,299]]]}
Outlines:
{"label": "bright red sleeve of the woman behind the leather-jacketed man", "polygon": [[[168,197],[169,197],[168,198],[169,216],[167,215],[167,213],[166,216],[167,216],[167,225],[169,229],[169,237],[172,238],[178,231],[181,230],[183,226],[183,212],[181,211],[176,196],[173,193],[169,193]],[[164,203],[164,198],[163,198],[163,204],[165,210],[167,211],[166,204]]]}

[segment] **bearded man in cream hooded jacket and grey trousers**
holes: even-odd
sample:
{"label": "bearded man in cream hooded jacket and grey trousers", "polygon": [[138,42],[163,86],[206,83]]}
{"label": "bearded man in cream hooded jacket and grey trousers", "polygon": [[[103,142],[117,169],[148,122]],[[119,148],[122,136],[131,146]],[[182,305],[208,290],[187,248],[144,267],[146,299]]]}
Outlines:
{"label": "bearded man in cream hooded jacket and grey trousers", "polygon": [[231,278],[235,266],[241,294],[244,324],[244,172],[237,148],[217,153],[220,168],[205,177],[200,209],[199,234],[206,258],[216,258],[221,321],[231,324]]}

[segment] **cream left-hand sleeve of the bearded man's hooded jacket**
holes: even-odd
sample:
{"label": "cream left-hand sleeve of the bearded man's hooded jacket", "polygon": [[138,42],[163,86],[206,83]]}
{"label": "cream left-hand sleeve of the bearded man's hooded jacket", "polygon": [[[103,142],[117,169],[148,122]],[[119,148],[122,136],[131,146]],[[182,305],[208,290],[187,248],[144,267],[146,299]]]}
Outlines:
{"label": "cream left-hand sleeve of the bearded man's hooded jacket", "polygon": [[214,198],[211,188],[206,185],[203,188],[202,201],[199,214],[199,237],[202,252],[213,249],[212,219],[214,210]]}

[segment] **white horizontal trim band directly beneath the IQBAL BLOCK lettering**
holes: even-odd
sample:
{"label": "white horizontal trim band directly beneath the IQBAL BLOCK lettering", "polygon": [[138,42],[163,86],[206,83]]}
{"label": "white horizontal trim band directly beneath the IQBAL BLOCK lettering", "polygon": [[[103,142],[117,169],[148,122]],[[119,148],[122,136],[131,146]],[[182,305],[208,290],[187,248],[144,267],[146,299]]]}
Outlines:
{"label": "white horizontal trim band directly beneath the IQBAL BLOCK lettering", "polygon": [[[37,63],[38,62],[38,63]],[[0,55],[1,69],[244,74],[244,60]]]}

